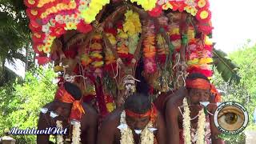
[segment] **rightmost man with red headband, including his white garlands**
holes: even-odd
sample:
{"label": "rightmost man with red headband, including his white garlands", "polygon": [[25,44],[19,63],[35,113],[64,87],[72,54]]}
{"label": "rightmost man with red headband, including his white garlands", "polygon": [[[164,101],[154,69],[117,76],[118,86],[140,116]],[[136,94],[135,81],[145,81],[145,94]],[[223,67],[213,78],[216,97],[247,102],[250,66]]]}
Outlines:
{"label": "rightmost man with red headband, including his white garlands", "polygon": [[222,143],[213,116],[219,101],[220,94],[208,78],[189,74],[186,88],[181,87],[166,102],[167,143]]}

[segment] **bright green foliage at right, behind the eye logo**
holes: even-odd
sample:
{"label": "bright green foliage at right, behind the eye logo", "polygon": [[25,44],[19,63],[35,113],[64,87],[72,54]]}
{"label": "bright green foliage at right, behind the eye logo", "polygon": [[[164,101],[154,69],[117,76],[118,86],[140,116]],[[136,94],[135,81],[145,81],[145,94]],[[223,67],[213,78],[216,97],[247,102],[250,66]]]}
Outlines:
{"label": "bright green foliage at right, behind the eye logo", "polygon": [[[222,95],[224,102],[235,101],[246,107],[249,114],[249,124],[246,130],[256,130],[253,117],[256,108],[256,46],[245,44],[241,49],[228,54],[228,57],[240,68],[238,70],[239,76],[242,77],[240,83],[236,85],[224,82],[217,70],[214,72],[213,82],[219,90],[224,92]],[[222,135],[222,138],[228,141],[226,143],[244,143],[246,135],[245,133]]]}

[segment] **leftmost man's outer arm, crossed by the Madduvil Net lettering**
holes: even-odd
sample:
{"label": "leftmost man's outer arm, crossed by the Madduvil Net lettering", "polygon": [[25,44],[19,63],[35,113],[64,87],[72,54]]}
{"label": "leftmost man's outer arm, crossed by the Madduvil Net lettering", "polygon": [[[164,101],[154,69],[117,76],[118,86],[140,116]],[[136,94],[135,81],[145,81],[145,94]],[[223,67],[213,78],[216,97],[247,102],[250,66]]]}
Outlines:
{"label": "leftmost man's outer arm, crossed by the Madduvil Net lettering", "polygon": [[[39,120],[38,120],[38,130],[45,130],[48,125],[46,123],[45,115],[40,113]],[[37,135],[37,143],[38,144],[46,144],[49,143],[49,134],[38,134]]]}

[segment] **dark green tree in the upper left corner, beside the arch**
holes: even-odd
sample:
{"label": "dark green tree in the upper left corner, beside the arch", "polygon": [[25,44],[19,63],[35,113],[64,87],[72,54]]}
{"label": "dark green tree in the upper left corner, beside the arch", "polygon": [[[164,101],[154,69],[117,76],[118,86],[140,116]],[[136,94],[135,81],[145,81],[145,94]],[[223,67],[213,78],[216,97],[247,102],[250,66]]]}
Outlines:
{"label": "dark green tree in the upper left corner, beside the arch", "polygon": [[23,1],[0,0],[0,86],[8,81],[6,62],[19,59],[27,69],[34,60],[28,23]]}

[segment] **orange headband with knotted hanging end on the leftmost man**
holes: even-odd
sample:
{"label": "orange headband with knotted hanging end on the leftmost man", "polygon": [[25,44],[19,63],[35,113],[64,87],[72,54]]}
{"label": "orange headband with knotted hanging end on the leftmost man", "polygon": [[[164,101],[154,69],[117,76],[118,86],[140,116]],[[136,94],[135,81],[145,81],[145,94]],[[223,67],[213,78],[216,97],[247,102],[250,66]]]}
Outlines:
{"label": "orange headband with knotted hanging end on the leftmost man", "polygon": [[71,94],[69,94],[63,86],[60,86],[55,94],[56,100],[65,103],[72,103],[72,109],[70,112],[70,119],[80,120],[82,114],[85,114],[85,110],[82,108],[82,104],[79,100],[75,100]]}

